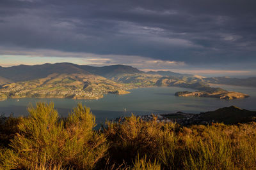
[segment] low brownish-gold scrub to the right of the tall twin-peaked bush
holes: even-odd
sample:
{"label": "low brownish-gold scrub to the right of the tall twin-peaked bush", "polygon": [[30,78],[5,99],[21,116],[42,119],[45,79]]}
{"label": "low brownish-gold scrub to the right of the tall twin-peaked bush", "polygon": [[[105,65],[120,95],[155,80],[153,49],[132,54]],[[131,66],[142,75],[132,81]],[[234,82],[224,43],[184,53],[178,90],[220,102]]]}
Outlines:
{"label": "low brownish-gold scrub to the right of the tall twin-peaked bush", "polygon": [[[115,167],[125,162],[130,168],[145,169],[154,160],[162,169],[256,169],[255,127],[255,123],[180,127],[132,116],[125,122],[108,122],[104,133],[110,144],[109,164]],[[137,154],[148,159],[136,159]]]}

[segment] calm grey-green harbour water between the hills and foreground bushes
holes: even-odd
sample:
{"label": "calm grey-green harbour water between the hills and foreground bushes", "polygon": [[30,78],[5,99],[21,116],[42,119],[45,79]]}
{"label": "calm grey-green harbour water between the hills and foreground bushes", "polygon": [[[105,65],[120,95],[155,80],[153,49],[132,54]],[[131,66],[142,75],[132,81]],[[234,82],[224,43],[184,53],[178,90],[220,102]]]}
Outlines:
{"label": "calm grey-green harbour water between the hills and foreground bushes", "polygon": [[102,99],[98,100],[24,98],[18,101],[18,99],[8,99],[0,101],[0,113],[5,116],[9,116],[12,113],[15,117],[28,115],[26,110],[28,104],[35,104],[36,101],[54,102],[55,108],[59,111],[61,117],[67,117],[70,110],[77,103],[82,103],[92,109],[97,122],[104,122],[106,118],[109,120],[116,117],[129,116],[131,113],[135,115],[175,113],[177,111],[200,113],[231,105],[247,110],[256,110],[256,88],[212,85],[212,87],[214,86],[244,92],[249,94],[250,97],[230,101],[211,97],[177,97],[174,96],[177,91],[193,90],[179,87],[147,87],[132,89],[131,94],[121,96],[106,94]]}

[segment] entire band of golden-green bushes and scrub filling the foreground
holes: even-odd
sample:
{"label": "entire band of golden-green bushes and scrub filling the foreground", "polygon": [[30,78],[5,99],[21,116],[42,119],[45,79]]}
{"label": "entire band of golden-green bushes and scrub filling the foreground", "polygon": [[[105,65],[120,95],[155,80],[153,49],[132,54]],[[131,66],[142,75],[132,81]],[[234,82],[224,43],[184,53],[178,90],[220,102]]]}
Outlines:
{"label": "entire band of golden-green bushes and scrub filling the foreground", "polygon": [[99,131],[90,108],[68,118],[37,103],[2,120],[0,169],[256,169],[256,124],[144,122],[134,116]]}

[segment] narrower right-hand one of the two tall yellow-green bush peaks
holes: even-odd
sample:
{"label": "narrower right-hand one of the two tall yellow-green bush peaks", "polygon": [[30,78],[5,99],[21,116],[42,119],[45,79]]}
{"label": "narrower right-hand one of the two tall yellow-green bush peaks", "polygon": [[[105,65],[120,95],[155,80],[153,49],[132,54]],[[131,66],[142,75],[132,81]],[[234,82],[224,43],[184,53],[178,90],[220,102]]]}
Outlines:
{"label": "narrower right-hand one of the two tall yellow-green bush peaks", "polygon": [[92,169],[108,149],[105,136],[92,130],[95,127],[95,116],[90,108],[78,104],[65,125],[68,139],[62,151],[65,162],[76,165],[73,167],[78,169]]}

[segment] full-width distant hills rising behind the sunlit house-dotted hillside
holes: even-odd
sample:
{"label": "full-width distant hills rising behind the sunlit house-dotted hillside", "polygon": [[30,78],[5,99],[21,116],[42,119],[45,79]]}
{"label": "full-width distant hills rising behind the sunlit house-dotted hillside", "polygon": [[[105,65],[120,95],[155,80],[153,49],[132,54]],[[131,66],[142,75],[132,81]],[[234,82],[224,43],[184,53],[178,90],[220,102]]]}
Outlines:
{"label": "full-width distant hills rising behind the sunlit house-dotted hillside", "polygon": [[[193,74],[181,74],[172,71],[144,72],[132,66],[122,64],[112,66],[86,66],[60,62],[55,64],[0,66],[0,85],[6,83],[31,81],[46,78],[51,74],[83,74],[83,76],[101,76],[119,83],[130,83],[136,87],[143,86],[177,86],[202,90],[209,83],[256,87],[256,78],[205,78]],[[200,83],[199,87],[196,85]]]}

